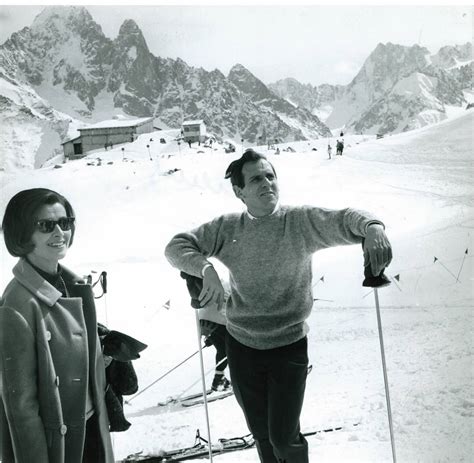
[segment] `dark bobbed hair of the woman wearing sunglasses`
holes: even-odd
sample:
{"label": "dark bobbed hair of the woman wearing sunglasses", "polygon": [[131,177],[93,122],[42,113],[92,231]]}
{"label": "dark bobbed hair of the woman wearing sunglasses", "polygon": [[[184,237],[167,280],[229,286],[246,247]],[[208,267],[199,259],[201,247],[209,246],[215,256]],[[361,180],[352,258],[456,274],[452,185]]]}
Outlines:
{"label": "dark bobbed hair of the woman wearing sunglasses", "polygon": [[[35,231],[36,214],[42,206],[61,204],[66,209],[67,217],[74,217],[74,210],[69,201],[59,193],[47,188],[23,190],[13,196],[7,204],[3,216],[2,229],[8,252],[15,257],[23,257],[33,251],[31,237]],[[71,246],[75,226],[71,228]]]}

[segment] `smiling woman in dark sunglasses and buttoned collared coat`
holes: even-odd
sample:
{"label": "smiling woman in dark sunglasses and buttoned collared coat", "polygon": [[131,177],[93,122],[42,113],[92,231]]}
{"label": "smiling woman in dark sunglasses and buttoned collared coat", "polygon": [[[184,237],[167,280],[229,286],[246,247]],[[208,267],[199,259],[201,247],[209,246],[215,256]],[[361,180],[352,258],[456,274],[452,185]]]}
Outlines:
{"label": "smiling woman in dark sunglasses and buttoned collared coat", "polygon": [[24,190],[2,226],[20,259],[0,304],[0,460],[112,463],[94,296],[59,265],[74,211],[54,191]]}

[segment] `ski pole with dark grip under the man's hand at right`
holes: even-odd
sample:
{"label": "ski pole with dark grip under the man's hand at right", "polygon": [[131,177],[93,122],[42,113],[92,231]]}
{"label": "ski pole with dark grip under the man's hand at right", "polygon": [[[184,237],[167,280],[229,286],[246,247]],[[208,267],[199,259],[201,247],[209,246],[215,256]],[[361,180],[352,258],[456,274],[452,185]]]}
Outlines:
{"label": "ski pole with dark grip under the man's hand at right", "polygon": [[375,295],[375,309],[377,312],[377,326],[379,331],[379,342],[380,342],[380,353],[382,356],[382,369],[383,369],[383,380],[385,385],[385,401],[387,402],[387,415],[388,415],[388,426],[390,428],[390,442],[392,446],[392,459],[393,463],[397,462],[397,455],[395,453],[395,436],[393,433],[393,420],[392,420],[392,407],[390,406],[390,391],[388,387],[388,376],[387,376],[387,365],[385,363],[385,349],[383,344],[383,333],[382,333],[382,318],[380,316],[380,304],[378,288],[388,286],[390,280],[384,275],[383,270],[378,276],[372,274],[370,265],[367,265],[364,269],[364,282],[363,286],[368,286],[374,289]]}

